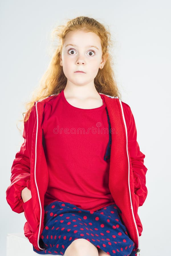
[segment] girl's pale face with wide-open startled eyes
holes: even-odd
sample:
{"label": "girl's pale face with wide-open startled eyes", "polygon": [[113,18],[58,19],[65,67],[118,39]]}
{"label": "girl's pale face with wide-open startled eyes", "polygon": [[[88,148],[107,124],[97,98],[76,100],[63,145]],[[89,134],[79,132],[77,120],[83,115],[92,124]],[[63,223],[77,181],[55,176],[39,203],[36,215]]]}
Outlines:
{"label": "girl's pale face with wide-open startled eyes", "polygon": [[[93,32],[83,30],[66,34],[60,63],[63,66],[67,83],[75,85],[93,84],[99,67],[105,64],[102,59],[100,37]],[[76,73],[83,71],[84,73]]]}

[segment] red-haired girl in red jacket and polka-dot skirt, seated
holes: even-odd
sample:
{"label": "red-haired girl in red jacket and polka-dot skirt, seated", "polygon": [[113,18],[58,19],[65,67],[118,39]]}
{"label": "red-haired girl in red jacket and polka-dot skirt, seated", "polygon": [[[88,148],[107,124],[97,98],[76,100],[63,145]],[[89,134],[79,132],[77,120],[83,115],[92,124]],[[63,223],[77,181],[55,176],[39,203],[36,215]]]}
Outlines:
{"label": "red-haired girl in red jacket and polka-dot skirt, seated", "polygon": [[7,202],[24,211],[38,254],[137,255],[147,168],[114,80],[110,33],[84,16],[55,31],[60,45],[25,115]]}

